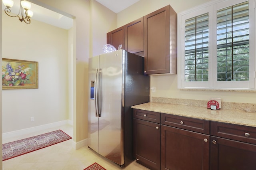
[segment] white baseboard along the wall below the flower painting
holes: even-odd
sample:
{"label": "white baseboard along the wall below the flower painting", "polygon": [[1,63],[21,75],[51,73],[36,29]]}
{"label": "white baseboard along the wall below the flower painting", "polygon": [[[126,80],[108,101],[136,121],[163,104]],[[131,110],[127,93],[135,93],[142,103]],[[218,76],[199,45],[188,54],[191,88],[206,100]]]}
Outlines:
{"label": "white baseboard along the wall below the flower painting", "polygon": [[37,126],[37,127],[24,128],[24,129],[21,129],[21,130],[15,130],[15,131],[12,131],[12,132],[3,133],[2,138],[3,139],[11,138],[11,137],[20,136],[20,135],[23,135],[23,134],[28,134],[28,133],[31,133],[31,132],[36,132],[38,130],[45,130],[45,129],[48,129],[48,128],[54,128],[54,127],[58,127],[58,126],[66,125],[66,124],[70,125],[70,123],[72,123],[72,121],[65,120],[65,121],[49,123],[49,124],[46,124],[46,125],[40,125],[40,126]]}

